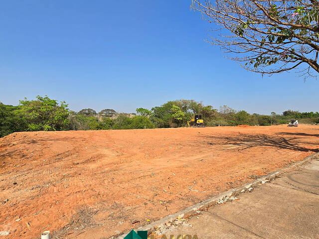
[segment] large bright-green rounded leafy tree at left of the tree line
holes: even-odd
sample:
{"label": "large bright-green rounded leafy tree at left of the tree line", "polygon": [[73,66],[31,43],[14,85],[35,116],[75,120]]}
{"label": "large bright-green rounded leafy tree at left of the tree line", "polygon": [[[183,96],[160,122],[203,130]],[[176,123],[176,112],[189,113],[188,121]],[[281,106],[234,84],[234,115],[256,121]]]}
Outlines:
{"label": "large bright-green rounded leafy tree at left of the tree line", "polygon": [[16,114],[25,120],[29,131],[65,130],[69,124],[67,106],[64,101],[59,104],[47,96],[37,96],[36,100],[20,101]]}

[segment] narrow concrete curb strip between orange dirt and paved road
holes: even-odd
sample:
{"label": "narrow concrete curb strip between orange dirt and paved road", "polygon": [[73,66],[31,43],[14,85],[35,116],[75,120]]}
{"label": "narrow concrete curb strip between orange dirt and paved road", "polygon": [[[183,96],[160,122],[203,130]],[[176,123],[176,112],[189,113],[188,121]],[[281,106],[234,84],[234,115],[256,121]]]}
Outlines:
{"label": "narrow concrete curb strip between orange dirt and paved road", "polygon": [[[299,166],[301,164],[304,164],[310,160],[312,160],[315,156],[319,155],[319,152],[318,153],[314,153],[308,157],[306,157],[304,160],[302,161],[299,161],[297,163],[294,163],[292,165],[289,165],[283,169],[280,169],[276,172],[273,172],[273,173],[270,173],[266,176],[263,176],[261,178],[258,178],[258,179],[255,179],[254,181],[252,181],[251,183],[247,183],[247,184],[244,184],[243,186],[240,186],[240,187],[237,187],[237,188],[233,188],[231,190],[228,190],[227,192],[224,192],[224,193],[221,193],[221,194],[218,194],[212,198],[209,198],[209,199],[206,199],[200,203],[197,203],[193,206],[190,206],[188,208],[185,208],[183,209],[182,211],[180,212],[177,212],[177,213],[174,213],[174,214],[171,214],[171,215],[168,215],[156,222],[153,222],[151,224],[148,224],[148,225],[145,225],[145,226],[142,226],[140,228],[137,228],[135,231],[148,231],[149,233],[150,232],[153,232],[155,231],[157,228],[159,228],[160,226],[164,225],[165,223],[168,223],[168,222],[172,222],[173,220],[175,220],[176,218],[186,218],[186,217],[189,217],[190,215],[192,214],[195,214],[196,211],[198,210],[203,210],[203,209],[206,209],[206,208],[209,208],[213,205],[215,205],[219,200],[222,200],[223,198],[225,197],[231,197],[233,195],[236,195],[238,193],[243,193],[245,192],[247,189],[251,188],[251,187],[254,187],[255,185],[258,185],[260,183],[265,183],[266,180],[270,180],[270,179],[274,179],[278,174],[280,173],[283,173],[289,169],[292,169],[296,166]],[[127,232],[129,233],[129,232]],[[118,236],[118,237],[114,237],[116,239],[123,239],[127,234],[123,234],[121,236]]]}

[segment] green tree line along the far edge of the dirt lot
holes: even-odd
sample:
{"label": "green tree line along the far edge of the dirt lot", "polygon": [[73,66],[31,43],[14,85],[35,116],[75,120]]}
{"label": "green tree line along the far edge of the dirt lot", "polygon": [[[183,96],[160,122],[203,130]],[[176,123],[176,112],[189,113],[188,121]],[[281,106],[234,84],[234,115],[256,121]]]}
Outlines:
{"label": "green tree line along the far edge of the dirt lot", "polygon": [[161,106],[136,109],[136,113],[117,113],[105,109],[99,113],[93,109],[70,111],[62,101],[48,96],[35,100],[21,100],[18,106],[0,103],[0,137],[17,131],[98,130],[183,127],[194,115],[202,115],[206,126],[272,125],[299,119],[304,123],[319,123],[319,113],[288,110],[278,115],[249,114],[235,111],[228,106],[214,109],[194,100],[168,101]]}

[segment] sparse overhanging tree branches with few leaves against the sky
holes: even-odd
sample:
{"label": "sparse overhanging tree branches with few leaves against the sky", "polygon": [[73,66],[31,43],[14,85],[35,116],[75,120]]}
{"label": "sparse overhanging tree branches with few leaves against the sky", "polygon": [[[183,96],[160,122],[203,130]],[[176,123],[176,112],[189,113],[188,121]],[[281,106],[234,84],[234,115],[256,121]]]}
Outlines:
{"label": "sparse overhanging tree branches with few leaves against the sky", "polygon": [[249,71],[319,73],[318,0],[192,0],[213,30],[211,44]]}

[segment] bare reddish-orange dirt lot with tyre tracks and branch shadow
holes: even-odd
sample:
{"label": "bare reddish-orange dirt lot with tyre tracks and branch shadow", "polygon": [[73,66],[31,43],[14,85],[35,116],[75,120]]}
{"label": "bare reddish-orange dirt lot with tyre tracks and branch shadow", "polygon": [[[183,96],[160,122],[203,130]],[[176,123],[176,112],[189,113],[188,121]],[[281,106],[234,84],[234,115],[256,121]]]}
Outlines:
{"label": "bare reddish-orange dirt lot with tyre tracks and branch shadow", "polygon": [[318,148],[318,125],[13,133],[0,139],[1,238],[109,238]]}

